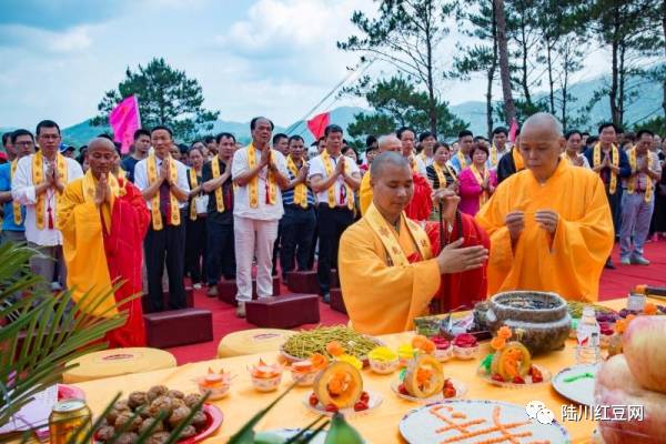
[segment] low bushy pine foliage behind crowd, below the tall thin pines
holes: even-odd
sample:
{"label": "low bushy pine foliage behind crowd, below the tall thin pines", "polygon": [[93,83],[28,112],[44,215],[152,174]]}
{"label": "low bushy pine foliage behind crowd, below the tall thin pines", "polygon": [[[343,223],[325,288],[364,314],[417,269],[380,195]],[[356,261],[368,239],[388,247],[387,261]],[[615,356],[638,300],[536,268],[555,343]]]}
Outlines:
{"label": "low bushy pine foliage behind crowd, below the tall thin pines", "polygon": [[[417,133],[430,130],[430,99],[425,92],[417,91],[407,77],[398,75],[379,81],[366,77],[347,92],[365,98],[375,110],[372,114],[355,115],[356,121],[349,127],[352,137],[387,134],[400,127],[412,127]],[[436,131],[440,135],[457,135],[468,125],[450,111],[446,102],[437,100],[435,112]]]}

